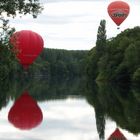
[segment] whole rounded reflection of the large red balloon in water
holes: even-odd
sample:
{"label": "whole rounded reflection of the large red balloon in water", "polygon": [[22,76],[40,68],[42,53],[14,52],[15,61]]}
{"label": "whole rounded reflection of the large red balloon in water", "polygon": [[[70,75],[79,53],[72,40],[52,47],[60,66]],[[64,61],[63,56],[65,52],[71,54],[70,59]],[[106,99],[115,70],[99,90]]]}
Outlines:
{"label": "whole rounded reflection of the large red balloon in water", "polygon": [[29,130],[38,126],[42,119],[41,109],[27,91],[15,101],[8,114],[9,122],[22,130]]}

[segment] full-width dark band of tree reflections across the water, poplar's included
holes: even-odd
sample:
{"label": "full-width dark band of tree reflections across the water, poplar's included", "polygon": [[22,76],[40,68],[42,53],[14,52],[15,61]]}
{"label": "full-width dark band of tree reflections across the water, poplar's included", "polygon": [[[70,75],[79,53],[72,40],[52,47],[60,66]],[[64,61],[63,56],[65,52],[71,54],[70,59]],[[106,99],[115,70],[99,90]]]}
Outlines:
{"label": "full-width dark band of tree reflections across the water, poplar's included", "polygon": [[[111,119],[122,129],[140,133],[140,88],[92,83],[84,79],[16,79],[0,82],[0,108],[16,100],[24,89],[37,101],[66,99],[69,96],[86,98],[95,110],[97,132],[105,139],[105,120]],[[109,137],[109,136],[108,136]]]}

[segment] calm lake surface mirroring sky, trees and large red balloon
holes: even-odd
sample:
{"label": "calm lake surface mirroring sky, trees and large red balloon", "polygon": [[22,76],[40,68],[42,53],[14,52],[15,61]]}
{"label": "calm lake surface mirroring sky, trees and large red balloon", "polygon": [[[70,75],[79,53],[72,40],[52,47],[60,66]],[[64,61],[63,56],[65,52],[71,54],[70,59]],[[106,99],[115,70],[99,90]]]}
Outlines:
{"label": "calm lake surface mirroring sky, trees and large red balloon", "polygon": [[1,86],[0,140],[107,140],[116,127],[128,140],[140,140],[139,89],[96,87],[78,79],[23,83]]}

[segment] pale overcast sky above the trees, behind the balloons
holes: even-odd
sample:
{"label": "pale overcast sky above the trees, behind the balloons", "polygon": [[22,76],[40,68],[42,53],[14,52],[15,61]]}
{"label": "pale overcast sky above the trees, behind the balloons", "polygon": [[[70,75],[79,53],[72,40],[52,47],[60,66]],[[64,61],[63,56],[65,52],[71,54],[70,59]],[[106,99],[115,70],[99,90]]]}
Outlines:
{"label": "pale overcast sky above the trees, behind the balloons", "polygon": [[41,0],[44,10],[37,19],[31,15],[11,20],[16,30],[39,33],[46,48],[89,50],[95,46],[100,20],[106,20],[107,38],[115,37],[126,28],[140,25],[140,0],[124,0],[130,14],[117,30],[107,13],[114,0]]}

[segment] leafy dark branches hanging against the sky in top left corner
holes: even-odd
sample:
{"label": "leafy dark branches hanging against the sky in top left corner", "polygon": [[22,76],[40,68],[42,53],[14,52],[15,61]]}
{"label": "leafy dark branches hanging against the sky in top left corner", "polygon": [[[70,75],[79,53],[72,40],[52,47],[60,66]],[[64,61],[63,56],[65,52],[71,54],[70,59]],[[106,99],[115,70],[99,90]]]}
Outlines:
{"label": "leafy dark branches hanging against the sky in top left corner", "polygon": [[42,11],[39,0],[3,0],[0,1],[0,15],[6,13],[7,16],[16,16],[17,14],[32,14],[33,17]]}

